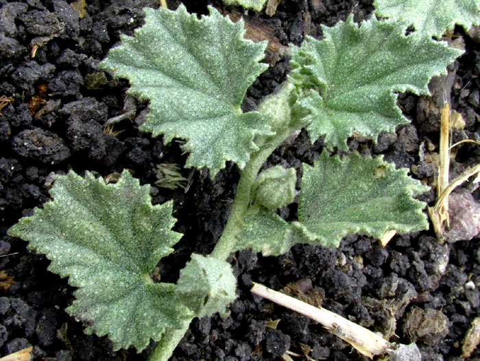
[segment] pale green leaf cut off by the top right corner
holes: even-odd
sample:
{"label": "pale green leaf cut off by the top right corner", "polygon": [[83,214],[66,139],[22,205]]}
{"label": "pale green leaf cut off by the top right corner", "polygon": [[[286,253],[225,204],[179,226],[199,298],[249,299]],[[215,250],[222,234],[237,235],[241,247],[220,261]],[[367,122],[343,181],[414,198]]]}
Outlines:
{"label": "pale green leaf cut off by the top right corner", "polygon": [[480,0],[375,0],[376,14],[413,25],[418,32],[441,38],[455,24],[465,31],[479,25]]}

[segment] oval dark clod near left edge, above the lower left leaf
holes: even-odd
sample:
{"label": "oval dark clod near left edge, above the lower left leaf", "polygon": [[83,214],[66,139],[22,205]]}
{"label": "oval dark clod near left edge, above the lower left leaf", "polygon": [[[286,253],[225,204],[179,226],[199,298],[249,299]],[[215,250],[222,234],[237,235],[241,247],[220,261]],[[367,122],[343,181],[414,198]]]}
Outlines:
{"label": "oval dark clod near left edge, above the lower left leaf", "polygon": [[21,157],[45,164],[58,164],[70,156],[62,138],[40,128],[25,129],[14,136],[12,147]]}

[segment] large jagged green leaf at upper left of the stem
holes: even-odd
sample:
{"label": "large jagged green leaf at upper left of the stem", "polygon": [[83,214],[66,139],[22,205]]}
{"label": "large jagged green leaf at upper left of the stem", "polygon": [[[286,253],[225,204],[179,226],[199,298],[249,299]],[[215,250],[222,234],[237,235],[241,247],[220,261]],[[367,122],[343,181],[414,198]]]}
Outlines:
{"label": "large jagged green leaf at upper left of the stem", "polygon": [[150,112],[141,129],[187,140],[187,166],[207,166],[211,176],[226,160],[240,168],[258,147],[256,134],[271,134],[268,117],[242,113],[247,88],[267,68],[266,42],[243,39],[243,21],[232,23],[214,8],[197,19],[180,5],[145,8],[145,25],[101,62],[116,77],[130,80],[130,94],[149,99]]}

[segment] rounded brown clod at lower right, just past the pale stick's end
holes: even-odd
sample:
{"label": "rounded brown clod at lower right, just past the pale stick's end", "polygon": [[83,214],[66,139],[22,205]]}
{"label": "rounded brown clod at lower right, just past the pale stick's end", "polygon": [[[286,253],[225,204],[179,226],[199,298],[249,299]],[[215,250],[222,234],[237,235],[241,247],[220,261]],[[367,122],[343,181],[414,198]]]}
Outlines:
{"label": "rounded brown clod at lower right, just past the pale stick's end", "polygon": [[403,325],[403,332],[412,342],[422,341],[429,346],[442,340],[448,334],[448,327],[450,327],[447,317],[433,308],[423,310],[413,306],[405,318],[407,321]]}

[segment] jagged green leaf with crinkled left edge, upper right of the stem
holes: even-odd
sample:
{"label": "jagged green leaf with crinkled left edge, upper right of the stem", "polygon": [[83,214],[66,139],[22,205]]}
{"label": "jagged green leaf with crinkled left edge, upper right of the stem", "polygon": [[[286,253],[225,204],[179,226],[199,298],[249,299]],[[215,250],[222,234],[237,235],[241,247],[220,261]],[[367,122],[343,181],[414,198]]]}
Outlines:
{"label": "jagged green leaf with crinkled left edge, upper right of the stem", "polygon": [[347,150],[353,130],[376,140],[381,131],[407,123],[394,92],[429,94],[429,79],[461,54],[375,18],[358,27],[350,16],[323,30],[324,40],[307,38],[293,47],[290,80],[304,92],[298,107],[311,112],[305,121],[312,141],[325,135],[329,149]]}

